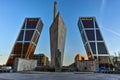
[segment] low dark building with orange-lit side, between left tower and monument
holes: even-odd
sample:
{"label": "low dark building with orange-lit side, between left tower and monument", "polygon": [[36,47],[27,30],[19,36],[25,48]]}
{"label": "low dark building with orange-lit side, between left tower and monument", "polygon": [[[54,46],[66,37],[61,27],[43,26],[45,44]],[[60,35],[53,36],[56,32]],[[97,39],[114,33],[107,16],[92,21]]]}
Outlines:
{"label": "low dark building with orange-lit side, between left tower and monument", "polygon": [[41,67],[49,66],[48,57],[44,54],[34,54],[33,59],[37,60],[37,66],[41,66]]}

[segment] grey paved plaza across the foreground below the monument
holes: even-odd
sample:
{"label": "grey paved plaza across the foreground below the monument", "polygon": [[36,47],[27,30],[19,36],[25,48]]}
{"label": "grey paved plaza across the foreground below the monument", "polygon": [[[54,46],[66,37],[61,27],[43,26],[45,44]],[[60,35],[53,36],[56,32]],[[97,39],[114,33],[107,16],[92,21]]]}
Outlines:
{"label": "grey paved plaza across the foreground below the monument", "polygon": [[102,73],[0,73],[0,80],[120,80],[120,74]]}

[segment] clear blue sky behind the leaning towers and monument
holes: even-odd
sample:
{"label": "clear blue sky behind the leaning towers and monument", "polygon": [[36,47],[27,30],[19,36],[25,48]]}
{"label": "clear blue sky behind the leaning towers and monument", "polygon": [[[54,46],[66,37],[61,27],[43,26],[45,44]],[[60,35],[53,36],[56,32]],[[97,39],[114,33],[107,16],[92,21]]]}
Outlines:
{"label": "clear blue sky behind the leaning towers and monument", "polygon": [[[77,22],[94,16],[111,55],[120,51],[120,0],[56,0],[67,28],[64,65],[76,54],[86,56]],[[49,28],[53,21],[54,0],[0,0],[0,64],[5,64],[25,17],[41,17],[44,26],[35,53],[50,59]]]}

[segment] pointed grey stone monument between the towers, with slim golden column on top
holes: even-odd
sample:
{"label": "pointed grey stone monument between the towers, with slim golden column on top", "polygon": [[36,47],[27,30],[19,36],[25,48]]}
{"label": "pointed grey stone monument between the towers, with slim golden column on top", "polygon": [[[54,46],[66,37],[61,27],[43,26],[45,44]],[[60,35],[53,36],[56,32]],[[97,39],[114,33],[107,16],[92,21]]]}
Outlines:
{"label": "pointed grey stone monument between the towers, with slim golden column on top", "polygon": [[54,21],[50,27],[51,66],[59,71],[63,64],[66,27],[60,13],[56,16],[54,3]]}

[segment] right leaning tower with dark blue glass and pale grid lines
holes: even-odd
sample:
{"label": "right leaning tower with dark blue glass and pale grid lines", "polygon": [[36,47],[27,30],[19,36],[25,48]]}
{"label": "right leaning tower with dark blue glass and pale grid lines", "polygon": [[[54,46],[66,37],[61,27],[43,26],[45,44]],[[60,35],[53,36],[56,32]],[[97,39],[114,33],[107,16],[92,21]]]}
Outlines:
{"label": "right leaning tower with dark blue glass and pale grid lines", "polygon": [[99,66],[108,66],[112,61],[101,35],[95,17],[81,17],[78,21],[78,28],[88,56],[88,59],[97,59]]}

